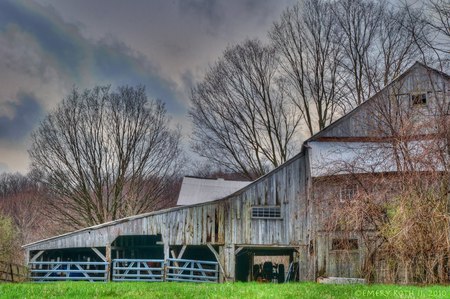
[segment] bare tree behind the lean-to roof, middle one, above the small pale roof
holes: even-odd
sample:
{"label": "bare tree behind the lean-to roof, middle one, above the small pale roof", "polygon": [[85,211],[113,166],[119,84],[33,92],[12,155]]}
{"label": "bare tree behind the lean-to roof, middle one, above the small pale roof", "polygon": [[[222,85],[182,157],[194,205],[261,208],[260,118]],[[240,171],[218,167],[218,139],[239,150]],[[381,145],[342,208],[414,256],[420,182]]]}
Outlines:
{"label": "bare tree behind the lean-to roof, middle one, above the small pale roof", "polygon": [[192,92],[194,151],[250,179],[285,162],[301,115],[277,72],[274,48],[260,41],[228,48]]}

